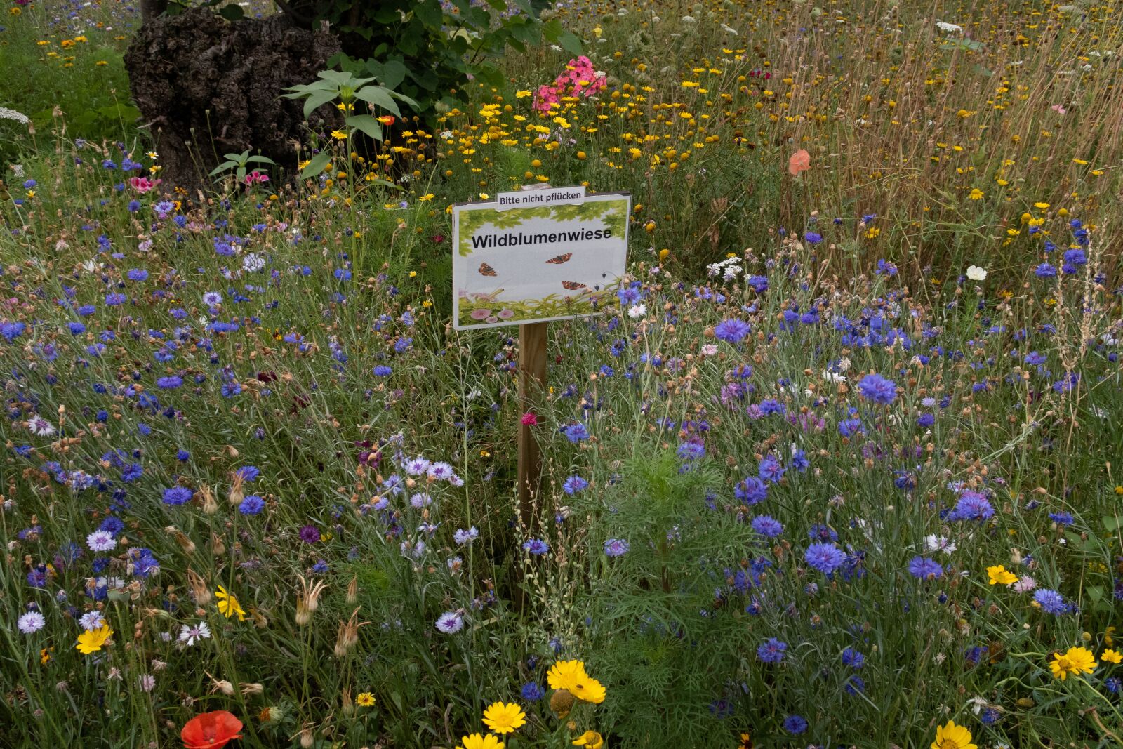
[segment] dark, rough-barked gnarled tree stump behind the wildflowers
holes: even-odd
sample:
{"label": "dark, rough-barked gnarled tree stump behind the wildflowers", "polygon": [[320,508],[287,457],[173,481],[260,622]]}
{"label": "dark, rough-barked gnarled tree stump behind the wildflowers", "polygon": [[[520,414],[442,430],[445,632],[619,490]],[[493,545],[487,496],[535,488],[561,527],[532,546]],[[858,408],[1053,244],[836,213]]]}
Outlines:
{"label": "dark, rough-barked gnarled tree stump behind the wildflowers", "polygon": [[[156,11],[161,1],[145,4]],[[313,80],[338,51],[331,34],[293,26],[282,13],[235,24],[200,9],[146,17],[125,66],[164,186],[206,189],[221,154],[247,148],[294,166],[302,102],[280,94]],[[313,128],[330,125],[313,115]]]}

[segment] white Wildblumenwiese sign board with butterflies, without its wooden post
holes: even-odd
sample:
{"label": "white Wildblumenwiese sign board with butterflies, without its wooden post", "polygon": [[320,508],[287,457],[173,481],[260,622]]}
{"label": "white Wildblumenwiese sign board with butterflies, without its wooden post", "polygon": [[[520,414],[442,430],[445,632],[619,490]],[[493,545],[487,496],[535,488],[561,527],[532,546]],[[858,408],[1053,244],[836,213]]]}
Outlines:
{"label": "white Wildblumenwiese sign board with butterflies, without its wooden post", "polygon": [[454,326],[599,314],[624,275],[630,214],[630,194],[586,195],[584,188],[454,205]]}

